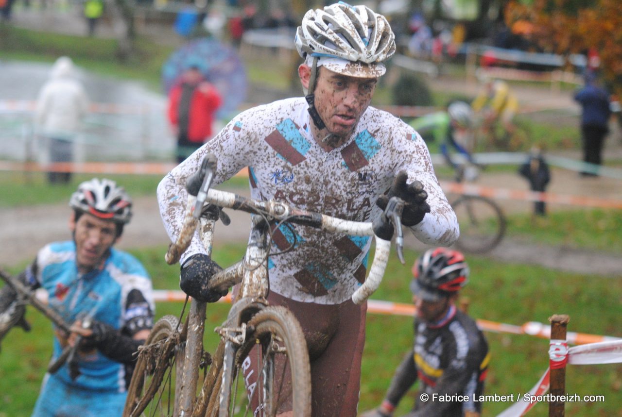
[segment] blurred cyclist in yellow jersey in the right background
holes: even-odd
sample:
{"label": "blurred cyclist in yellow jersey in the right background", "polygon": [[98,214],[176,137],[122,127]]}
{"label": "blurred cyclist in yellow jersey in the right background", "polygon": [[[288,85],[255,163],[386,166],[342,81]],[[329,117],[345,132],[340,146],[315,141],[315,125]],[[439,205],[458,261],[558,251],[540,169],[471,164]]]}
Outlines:
{"label": "blurred cyclist in yellow jersey in the right background", "polygon": [[514,116],[518,112],[518,98],[502,80],[492,80],[488,76],[481,77],[483,88],[473,99],[471,107],[476,114],[481,114],[486,131],[493,129],[497,122],[501,123],[505,136],[510,137],[516,131]]}

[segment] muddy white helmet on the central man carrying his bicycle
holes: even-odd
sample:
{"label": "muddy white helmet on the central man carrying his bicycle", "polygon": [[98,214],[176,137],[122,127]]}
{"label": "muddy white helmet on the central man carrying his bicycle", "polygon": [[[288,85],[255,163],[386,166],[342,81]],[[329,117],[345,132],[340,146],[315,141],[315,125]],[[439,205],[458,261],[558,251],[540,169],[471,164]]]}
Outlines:
{"label": "muddy white helmet on the central man carrying his bicycle", "polygon": [[341,1],[305,13],[294,42],[307,65],[313,57],[317,66],[365,78],[383,75],[382,62],[396,50],[395,35],[383,15]]}

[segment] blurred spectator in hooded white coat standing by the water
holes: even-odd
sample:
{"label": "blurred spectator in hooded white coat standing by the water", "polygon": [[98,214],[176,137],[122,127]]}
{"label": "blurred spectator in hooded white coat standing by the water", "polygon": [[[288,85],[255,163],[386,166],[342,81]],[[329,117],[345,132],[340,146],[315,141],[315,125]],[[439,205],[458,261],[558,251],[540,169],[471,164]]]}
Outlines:
{"label": "blurred spectator in hooded white coat standing by the water", "polygon": [[[88,97],[77,78],[71,58],[60,57],[52,66],[49,80],[37,99],[35,126],[49,144],[49,161],[71,162],[73,139],[88,111]],[[68,183],[71,172],[48,172],[50,183]]]}

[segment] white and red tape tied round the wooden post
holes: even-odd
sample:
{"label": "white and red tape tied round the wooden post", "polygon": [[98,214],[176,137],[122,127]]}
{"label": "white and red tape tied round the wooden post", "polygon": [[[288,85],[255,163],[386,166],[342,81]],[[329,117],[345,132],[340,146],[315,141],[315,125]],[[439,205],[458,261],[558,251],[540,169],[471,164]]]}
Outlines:
{"label": "white and red tape tied round the wooden post", "polygon": [[567,364],[598,365],[622,363],[622,339],[573,346],[570,349],[568,349],[565,343],[566,341],[550,341],[550,366],[536,385],[529,390],[529,398],[532,401],[525,401],[524,396],[521,396],[518,401],[506,408],[497,417],[524,416],[527,411],[531,410],[536,405],[538,397],[544,395],[549,390],[551,368],[565,367]]}

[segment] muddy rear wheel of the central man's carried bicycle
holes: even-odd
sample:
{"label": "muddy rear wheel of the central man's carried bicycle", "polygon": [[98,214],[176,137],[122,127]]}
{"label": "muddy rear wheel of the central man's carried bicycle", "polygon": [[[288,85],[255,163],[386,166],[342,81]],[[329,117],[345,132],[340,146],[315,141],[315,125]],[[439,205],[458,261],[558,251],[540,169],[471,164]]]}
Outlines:
{"label": "muddy rear wheel of the central man's carried bicycle", "polygon": [[178,324],[170,315],[154,324],[136,361],[124,417],[174,415],[177,365],[181,370],[184,354]]}

